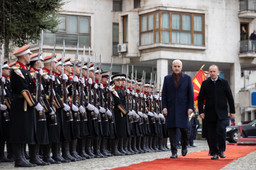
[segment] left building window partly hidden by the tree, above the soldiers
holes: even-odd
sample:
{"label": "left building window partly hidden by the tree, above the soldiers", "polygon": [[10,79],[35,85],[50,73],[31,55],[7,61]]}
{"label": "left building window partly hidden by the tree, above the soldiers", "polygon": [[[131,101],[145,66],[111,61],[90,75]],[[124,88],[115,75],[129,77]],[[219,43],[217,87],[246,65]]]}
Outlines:
{"label": "left building window partly hidden by the tree, above the soldiers", "polygon": [[55,37],[56,45],[63,45],[65,40],[65,45],[69,46],[76,46],[77,42],[80,47],[90,46],[90,17],[60,15],[59,20],[62,22],[57,33],[44,33],[44,44],[53,44]]}

